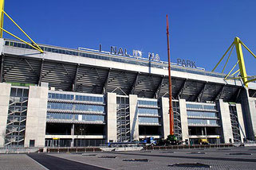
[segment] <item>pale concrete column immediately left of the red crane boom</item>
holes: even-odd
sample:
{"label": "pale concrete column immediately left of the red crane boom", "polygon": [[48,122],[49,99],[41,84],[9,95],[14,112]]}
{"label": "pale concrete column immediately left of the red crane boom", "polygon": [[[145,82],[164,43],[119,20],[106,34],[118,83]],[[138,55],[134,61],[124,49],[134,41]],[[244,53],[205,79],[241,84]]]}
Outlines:
{"label": "pale concrete column immediately left of the red crane boom", "polygon": [[163,136],[167,139],[170,134],[170,119],[169,119],[169,99],[161,98],[162,118],[163,118]]}

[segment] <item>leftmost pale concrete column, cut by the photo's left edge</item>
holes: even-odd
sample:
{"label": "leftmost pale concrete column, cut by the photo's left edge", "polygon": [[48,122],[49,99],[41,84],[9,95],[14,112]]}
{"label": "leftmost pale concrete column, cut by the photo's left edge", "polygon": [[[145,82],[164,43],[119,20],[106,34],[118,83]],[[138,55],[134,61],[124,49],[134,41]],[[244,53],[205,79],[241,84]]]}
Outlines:
{"label": "leftmost pale concrete column, cut by the photo's left edge", "polygon": [[0,148],[5,145],[6,123],[10,101],[10,83],[0,83]]}

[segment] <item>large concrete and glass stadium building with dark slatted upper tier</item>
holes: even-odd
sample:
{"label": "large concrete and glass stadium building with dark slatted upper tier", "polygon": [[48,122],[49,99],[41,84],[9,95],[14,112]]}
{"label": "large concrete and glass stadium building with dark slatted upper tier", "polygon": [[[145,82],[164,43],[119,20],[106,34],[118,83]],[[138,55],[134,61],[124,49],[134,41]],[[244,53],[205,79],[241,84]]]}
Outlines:
{"label": "large concrete and glass stadium building with dark slatted upper tier", "polygon": [[[166,63],[131,57],[120,48],[40,47],[44,53],[0,39],[0,147],[167,138]],[[244,87],[239,79],[178,62],[182,66],[171,65],[171,81],[179,140],[254,140],[256,83]]]}

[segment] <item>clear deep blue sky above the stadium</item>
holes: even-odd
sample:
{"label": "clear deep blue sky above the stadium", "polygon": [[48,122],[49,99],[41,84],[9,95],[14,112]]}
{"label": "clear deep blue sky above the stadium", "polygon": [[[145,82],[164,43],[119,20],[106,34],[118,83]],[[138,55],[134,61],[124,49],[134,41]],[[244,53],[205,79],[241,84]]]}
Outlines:
{"label": "clear deep blue sky above the stadium", "polygon": [[[144,57],[155,52],[165,61],[168,14],[171,62],[194,60],[211,71],[234,37],[256,54],[255,7],[254,0],[8,0],[5,11],[38,43],[94,49],[102,44],[104,51],[114,45],[129,53],[140,49]],[[5,19],[4,28],[23,37]],[[256,60],[245,49],[244,54],[247,73],[256,75]],[[231,57],[228,68],[235,63],[235,52]]]}

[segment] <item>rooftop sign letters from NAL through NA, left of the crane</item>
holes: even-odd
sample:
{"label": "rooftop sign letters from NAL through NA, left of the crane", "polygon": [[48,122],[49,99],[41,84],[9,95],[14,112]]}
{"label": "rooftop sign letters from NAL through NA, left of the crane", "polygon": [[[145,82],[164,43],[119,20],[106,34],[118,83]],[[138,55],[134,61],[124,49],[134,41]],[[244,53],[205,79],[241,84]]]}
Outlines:
{"label": "rooftop sign letters from NAL through NA, left of the crane", "polygon": [[147,60],[154,60],[160,61],[160,56],[158,54],[154,54],[152,52],[148,52],[148,58],[144,58],[142,56],[142,52],[140,50],[132,50],[132,55],[129,55],[126,48],[117,48],[114,46],[110,47],[110,54],[118,55],[118,56],[129,56],[136,59],[147,59]]}

